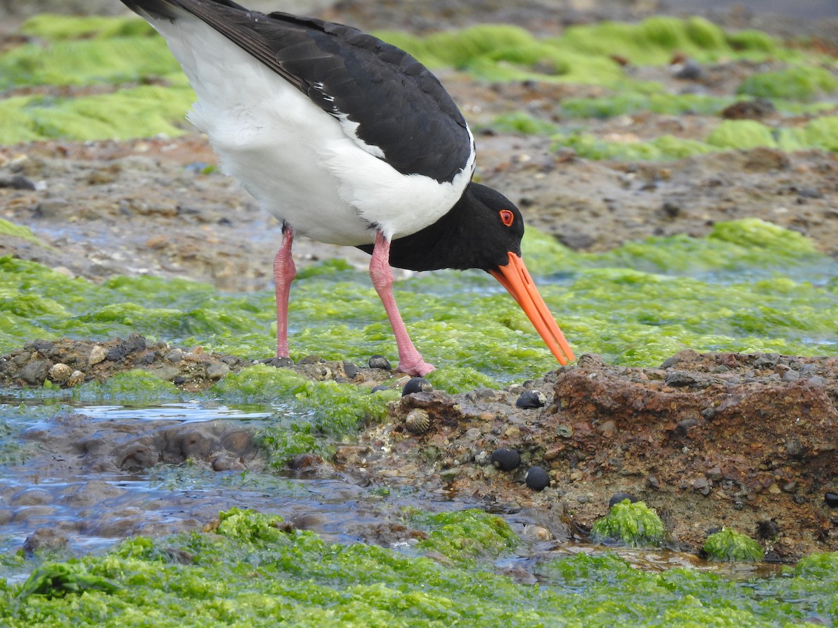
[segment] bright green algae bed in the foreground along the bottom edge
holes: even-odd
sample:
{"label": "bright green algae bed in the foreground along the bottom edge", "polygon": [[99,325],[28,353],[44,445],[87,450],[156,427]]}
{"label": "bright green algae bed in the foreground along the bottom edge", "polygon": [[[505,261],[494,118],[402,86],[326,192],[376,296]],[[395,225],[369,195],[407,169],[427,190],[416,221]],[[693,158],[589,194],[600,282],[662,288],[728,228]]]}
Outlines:
{"label": "bright green algae bed in the foreground along the bottom edge", "polygon": [[[176,558],[184,556],[185,563]],[[463,569],[387,548],[329,543],[280,517],[233,509],[204,533],[129,538],[109,553],[36,572],[91,579],[107,590],[21,595],[31,584],[0,581],[0,620],[16,627],[756,626],[838,619],[835,554],[808,557],[781,579],[745,583],[697,569],[642,572],[613,553],[580,553],[536,564],[541,583],[533,586],[493,573],[493,560],[484,556]]]}

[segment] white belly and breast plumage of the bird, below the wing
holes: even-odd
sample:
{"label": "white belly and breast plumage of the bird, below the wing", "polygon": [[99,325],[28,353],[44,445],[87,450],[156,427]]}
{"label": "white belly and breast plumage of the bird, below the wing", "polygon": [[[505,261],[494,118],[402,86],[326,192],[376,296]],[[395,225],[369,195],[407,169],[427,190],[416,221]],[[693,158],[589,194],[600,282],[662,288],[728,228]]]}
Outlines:
{"label": "white belly and breast plumage of the bird, below the wing", "polygon": [[[474,154],[452,183],[403,175],[301,91],[193,16],[153,23],[198,101],[189,120],[209,136],[225,172],[295,233],[370,244],[375,229],[416,233],[453,207]],[[372,150],[370,150],[372,149]]]}

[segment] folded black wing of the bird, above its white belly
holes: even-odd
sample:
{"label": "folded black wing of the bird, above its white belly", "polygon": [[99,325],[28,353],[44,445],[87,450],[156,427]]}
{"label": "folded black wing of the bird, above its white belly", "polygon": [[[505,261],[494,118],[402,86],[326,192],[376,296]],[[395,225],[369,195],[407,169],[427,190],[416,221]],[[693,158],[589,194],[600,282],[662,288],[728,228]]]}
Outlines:
{"label": "folded black wing of the bird, above its white belly", "polygon": [[357,28],[265,15],[230,0],[122,1],[157,18],[177,19],[177,8],[192,13],[323,111],[356,123],[362,145],[402,174],[452,181],[473,152],[463,115],[437,78],[404,50]]}

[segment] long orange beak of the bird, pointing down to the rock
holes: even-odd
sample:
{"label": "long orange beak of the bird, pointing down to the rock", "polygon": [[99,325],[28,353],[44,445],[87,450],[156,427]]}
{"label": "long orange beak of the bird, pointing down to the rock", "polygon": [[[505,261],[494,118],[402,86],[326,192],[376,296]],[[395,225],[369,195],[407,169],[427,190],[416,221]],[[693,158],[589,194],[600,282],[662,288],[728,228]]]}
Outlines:
{"label": "long orange beak of the bird, pointing down to the rock", "polygon": [[497,269],[489,270],[489,274],[504,286],[510,295],[513,296],[518,305],[532,322],[535,331],[556,356],[560,364],[566,364],[575,359],[571,346],[567,344],[565,335],[556,324],[556,320],[547,309],[547,304],[526,270],[524,260],[519,255],[510,252],[510,263],[505,266],[498,266]]}

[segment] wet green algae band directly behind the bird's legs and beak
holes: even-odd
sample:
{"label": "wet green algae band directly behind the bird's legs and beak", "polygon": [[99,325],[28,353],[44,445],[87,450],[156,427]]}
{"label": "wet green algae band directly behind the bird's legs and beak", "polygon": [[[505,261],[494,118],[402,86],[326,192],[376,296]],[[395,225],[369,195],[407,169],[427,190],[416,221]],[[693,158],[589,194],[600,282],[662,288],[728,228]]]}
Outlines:
{"label": "wet green algae band directly behind the bird's legs and beak", "polygon": [[[772,224],[719,223],[704,239],[652,238],[603,254],[573,253],[528,229],[522,248],[577,350],[640,366],[685,347],[835,353],[838,291],[827,282],[834,262],[810,240]],[[149,277],[97,286],[8,257],[0,258],[0,271],[0,351],[39,337],[106,339],[138,332],[252,360],[268,357],[275,343],[270,291],[225,294]],[[437,388],[490,387],[555,365],[520,308],[485,273],[417,275],[396,284],[396,299],[416,345],[441,367],[432,375]],[[391,328],[363,272],[322,270],[301,278],[290,318],[296,360],[312,353],[356,363],[375,353],[395,358]],[[266,399],[263,391],[282,394],[299,385],[263,380],[285,376],[258,369],[248,372],[251,387],[223,380],[215,394],[246,403]],[[315,389],[297,391],[303,401],[306,394],[328,398],[331,384],[308,385]]]}

